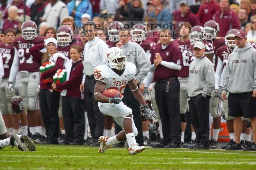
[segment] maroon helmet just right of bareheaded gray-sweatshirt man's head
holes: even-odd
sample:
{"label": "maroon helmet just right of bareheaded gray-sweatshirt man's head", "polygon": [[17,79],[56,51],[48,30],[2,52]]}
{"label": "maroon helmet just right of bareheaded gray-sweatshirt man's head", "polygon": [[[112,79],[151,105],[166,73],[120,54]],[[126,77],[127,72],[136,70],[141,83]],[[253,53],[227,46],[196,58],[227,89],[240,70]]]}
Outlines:
{"label": "maroon helmet just right of bareheaded gray-sweatshirt man's head", "polygon": [[[140,32],[138,34],[138,32]],[[147,37],[147,28],[143,24],[135,24],[132,27],[132,40],[135,42],[140,42],[145,40]]]}

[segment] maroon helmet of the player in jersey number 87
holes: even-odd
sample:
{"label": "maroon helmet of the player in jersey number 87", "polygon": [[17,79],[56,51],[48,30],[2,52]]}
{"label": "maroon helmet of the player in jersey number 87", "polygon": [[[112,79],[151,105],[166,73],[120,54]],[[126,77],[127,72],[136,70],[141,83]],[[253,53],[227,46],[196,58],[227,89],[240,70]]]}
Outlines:
{"label": "maroon helmet of the player in jersey number 87", "polygon": [[37,24],[34,21],[27,20],[21,25],[22,37],[27,40],[35,39],[37,36]]}

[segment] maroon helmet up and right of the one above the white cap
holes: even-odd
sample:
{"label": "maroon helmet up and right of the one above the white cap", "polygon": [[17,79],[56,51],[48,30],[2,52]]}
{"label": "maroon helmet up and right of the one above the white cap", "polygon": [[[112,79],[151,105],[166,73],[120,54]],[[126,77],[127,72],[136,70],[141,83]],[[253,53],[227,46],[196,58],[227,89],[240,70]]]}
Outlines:
{"label": "maroon helmet up and right of the one above the white cap", "polygon": [[204,24],[204,37],[206,40],[212,40],[218,37],[219,24],[214,20],[209,20]]}

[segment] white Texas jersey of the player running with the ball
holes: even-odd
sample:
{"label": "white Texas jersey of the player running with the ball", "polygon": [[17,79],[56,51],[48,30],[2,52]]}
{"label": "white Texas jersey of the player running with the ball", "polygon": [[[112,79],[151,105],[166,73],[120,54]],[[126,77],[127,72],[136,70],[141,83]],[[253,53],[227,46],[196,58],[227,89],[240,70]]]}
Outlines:
{"label": "white Texas jersey of the player running with the ball", "polygon": [[119,76],[108,65],[100,65],[94,69],[94,78],[106,83],[105,90],[113,88],[123,95],[126,85],[135,77],[136,69],[135,64],[127,62],[123,74]]}

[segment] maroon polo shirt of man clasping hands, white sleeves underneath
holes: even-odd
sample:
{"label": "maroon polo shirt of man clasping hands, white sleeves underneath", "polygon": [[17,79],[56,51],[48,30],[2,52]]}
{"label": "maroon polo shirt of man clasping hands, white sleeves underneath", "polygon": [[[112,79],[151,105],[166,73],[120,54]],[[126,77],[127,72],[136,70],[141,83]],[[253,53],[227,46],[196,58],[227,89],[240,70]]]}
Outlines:
{"label": "maroon polo shirt of man clasping hands, white sleeves underneath", "polygon": [[[161,44],[152,46],[151,50],[151,64],[154,64],[155,53],[160,53],[162,60],[172,62],[174,64],[182,65],[182,54],[180,49],[170,43],[165,49],[162,49]],[[163,65],[158,65],[154,71],[154,80],[166,80],[174,77],[178,77],[179,70],[170,69]]]}

